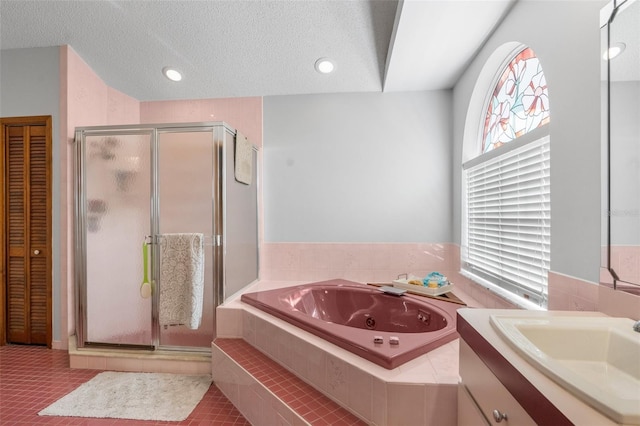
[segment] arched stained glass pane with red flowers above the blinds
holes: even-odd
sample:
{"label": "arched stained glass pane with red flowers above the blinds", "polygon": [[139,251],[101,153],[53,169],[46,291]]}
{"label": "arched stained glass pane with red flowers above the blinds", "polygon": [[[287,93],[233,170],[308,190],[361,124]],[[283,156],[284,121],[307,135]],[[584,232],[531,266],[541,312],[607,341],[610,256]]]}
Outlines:
{"label": "arched stained glass pane with red flowers above the blinds", "polygon": [[530,48],[518,53],[503,71],[487,105],[482,153],[549,122],[547,81]]}

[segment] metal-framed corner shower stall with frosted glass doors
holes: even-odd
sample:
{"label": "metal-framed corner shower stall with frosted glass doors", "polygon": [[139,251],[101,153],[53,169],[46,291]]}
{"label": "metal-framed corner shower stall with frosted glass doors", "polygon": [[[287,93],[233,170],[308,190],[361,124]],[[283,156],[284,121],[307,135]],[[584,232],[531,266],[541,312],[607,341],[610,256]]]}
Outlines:
{"label": "metal-framed corner shower stall with frosted glass doors", "polygon": [[[221,122],[81,127],[75,143],[78,348],[210,350],[216,306],[258,278],[256,148]],[[172,234],[202,241],[197,327],[159,321]]]}

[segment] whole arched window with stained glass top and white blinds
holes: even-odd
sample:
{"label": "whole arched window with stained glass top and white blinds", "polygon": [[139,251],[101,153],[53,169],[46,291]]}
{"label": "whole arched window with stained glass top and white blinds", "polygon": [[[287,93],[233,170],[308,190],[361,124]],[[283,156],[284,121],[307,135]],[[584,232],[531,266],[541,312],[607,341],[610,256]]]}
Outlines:
{"label": "whole arched window with stained glass top and white blinds", "polygon": [[474,108],[463,147],[473,156],[462,164],[461,273],[517,306],[546,308],[551,135],[534,52],[518,42],[496,50],[476,82]]}

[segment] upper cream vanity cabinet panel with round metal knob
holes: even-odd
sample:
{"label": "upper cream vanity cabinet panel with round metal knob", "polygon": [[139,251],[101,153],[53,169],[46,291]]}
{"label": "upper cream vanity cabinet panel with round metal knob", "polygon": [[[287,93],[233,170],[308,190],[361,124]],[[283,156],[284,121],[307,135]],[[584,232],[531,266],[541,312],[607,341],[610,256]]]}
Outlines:
{"label": "upper cream vanity cabinet panel with round metal knob", "polygon": [[[469,389],[482,414],[489,419],[489,424],[536,426],[536,422],[462,339],[460,376],[462,384]],[[493,417],[494,410],[506,415],[506,419],[496,421]]]}

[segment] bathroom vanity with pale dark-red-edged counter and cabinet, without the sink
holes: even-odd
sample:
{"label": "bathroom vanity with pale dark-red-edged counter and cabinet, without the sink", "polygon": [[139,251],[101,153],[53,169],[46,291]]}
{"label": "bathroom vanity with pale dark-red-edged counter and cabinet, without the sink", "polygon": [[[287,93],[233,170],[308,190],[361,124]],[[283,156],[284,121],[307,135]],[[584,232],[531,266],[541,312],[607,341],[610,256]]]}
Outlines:
{"label": "bathroom vanity with pale dark-red-edged counter and cabinet, without the sink", "polygon": [[599,312],[458,310],[459,425],[616,425],[525,359],[491,324],[492,315],[604,317]]}

